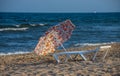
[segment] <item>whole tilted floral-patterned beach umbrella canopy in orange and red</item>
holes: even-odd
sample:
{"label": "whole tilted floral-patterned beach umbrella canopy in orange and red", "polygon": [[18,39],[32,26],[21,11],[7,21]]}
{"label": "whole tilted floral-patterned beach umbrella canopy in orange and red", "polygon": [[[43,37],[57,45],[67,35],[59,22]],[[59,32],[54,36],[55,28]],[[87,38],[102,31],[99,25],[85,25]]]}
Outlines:
{"label": "whole tilted floral-patterned beach umbrella canopy in orange and red", "polygon": [[57,47],[63,46],[62,43],[70,38],[74,28],[75,25],[70,20],[49,28],[45,35],[40,37],[34,52],[37,55],[53,53]]}

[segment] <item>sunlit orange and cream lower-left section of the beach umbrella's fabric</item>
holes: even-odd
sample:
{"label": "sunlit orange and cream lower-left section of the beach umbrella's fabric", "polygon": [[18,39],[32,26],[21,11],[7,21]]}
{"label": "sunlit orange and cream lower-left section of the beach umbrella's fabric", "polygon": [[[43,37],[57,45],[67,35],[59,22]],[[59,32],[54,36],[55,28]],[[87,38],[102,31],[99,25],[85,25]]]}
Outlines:
{"label": "sunlit orange and cream lower-left section of the beach umbrella's fabric", "polygon": [[55,47],[53,44],[52,33],[41,37],[34,51],[38,55],[47,55],[48,53],[53,53],[55,51]]}

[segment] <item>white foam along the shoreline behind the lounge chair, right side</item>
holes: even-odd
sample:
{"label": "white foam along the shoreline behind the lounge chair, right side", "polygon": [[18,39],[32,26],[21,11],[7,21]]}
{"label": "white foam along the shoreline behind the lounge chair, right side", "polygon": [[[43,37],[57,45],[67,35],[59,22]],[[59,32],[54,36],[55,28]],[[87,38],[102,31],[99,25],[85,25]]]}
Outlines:
{"label": "white foam along the shoreline behind the lounge chair, right side", "polygon": [[99,45],[109,45],[116,42],[108,42],[108,43],[77,43],[74,46],[99,46]]}

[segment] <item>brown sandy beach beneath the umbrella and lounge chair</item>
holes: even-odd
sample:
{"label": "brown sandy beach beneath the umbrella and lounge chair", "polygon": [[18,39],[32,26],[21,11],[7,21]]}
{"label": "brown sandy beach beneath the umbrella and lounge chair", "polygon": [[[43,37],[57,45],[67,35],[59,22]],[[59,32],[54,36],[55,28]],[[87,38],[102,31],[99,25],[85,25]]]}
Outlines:
{"label": "brown sandy beach beneath the umbrella and lounge chair", "polygon": [[[39,57],[34,53],[0,56],[0,76],[120,76],[120,43],[111,43],[109,53],[102,60],[100,51],[84,61],[80,56],[57,64],[52,55]],[[96,46],[71,47],[68,50],[90,50]],[[61,57],[63,58],[63,57]]]}

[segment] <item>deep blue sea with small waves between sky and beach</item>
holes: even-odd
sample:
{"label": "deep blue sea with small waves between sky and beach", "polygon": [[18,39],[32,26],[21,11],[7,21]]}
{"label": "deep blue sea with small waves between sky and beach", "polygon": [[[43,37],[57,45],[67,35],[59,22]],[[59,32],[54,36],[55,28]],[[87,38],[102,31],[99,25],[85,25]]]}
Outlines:
{"label": "deep blue sea with small waves between sky and beach", "polygon": [[[65,48],[120,42],[120,13],[0,13],[0,55],[33,52],[52,26],[75,25]],[[56,48],[61,49],[61,48]]]}

